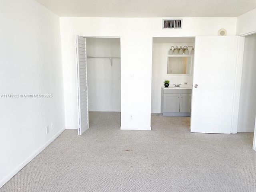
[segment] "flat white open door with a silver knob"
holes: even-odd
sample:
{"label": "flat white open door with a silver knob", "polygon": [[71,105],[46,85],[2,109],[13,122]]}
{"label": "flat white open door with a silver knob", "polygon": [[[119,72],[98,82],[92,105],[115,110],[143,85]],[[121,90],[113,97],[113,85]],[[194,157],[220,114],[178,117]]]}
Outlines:
{"label": "flat white open door with a silver knob", "polygon": [[196,37],[191,132],[231,133],[237,51],[238,36]]}

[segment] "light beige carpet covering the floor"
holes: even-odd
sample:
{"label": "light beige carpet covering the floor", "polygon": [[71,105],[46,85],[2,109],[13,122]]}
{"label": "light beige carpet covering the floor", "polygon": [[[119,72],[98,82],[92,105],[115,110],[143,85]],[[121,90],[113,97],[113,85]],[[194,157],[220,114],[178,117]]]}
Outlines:
{"label": "light beige carpet covering the floor", "polygon": [[90,112],[0,192],[253,192],[252,133],[192,134],[189,117],[152,116],[152,131],[120,130],[119,112]]}

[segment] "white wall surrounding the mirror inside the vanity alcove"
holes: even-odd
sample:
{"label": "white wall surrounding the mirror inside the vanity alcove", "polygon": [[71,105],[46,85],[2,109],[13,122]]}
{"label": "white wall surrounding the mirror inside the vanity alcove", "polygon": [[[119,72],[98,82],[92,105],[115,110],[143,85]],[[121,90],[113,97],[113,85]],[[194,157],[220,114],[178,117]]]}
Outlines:
{"label": "white wall surrounding the mirror inside the vanity alcove", "polygon": [[[194,43],[153,43],[152,52],[152,90],[151,90],[151,112],[161,112],[161,86],[164,84],[164,80],[169,80],[172,84],[192,84],[193,76],[186,75],[166,75],[166,55],[171,46],[193,46]],[[188,48],[191,50],[191,47]]]}

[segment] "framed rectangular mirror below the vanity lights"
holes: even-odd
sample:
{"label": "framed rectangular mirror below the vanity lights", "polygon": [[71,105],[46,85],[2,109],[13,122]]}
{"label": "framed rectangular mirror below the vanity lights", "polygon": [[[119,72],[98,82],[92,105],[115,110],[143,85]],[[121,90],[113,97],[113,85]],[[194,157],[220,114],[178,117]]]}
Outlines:
{"label": "framed rectangular mirror below the vanity lights", "polygon": [[166,59],[167,75],[191,75],[192,55],[168,55]]}

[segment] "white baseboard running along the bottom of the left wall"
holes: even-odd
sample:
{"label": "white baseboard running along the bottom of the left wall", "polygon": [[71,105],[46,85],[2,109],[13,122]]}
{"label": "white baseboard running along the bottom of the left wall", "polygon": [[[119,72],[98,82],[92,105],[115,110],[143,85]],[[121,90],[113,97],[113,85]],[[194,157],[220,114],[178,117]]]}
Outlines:
{"label": "white baseboard running along the bottom of the left wall", "polygon": [[32,153],[26,160],[24,160],[18,167],[16,167],[12,172],[10,172],[5,178],[0,181],[0,188],[8,182],[14,175],[16,175],[26,164],[28,164],[32,159],[34,159],[42,150],[44,150],[51,142],[54,141],[66,128],[62,128],[58,133],[56,133],[50,140],[48,140],[43,146],[38,148],[34,153]]}

